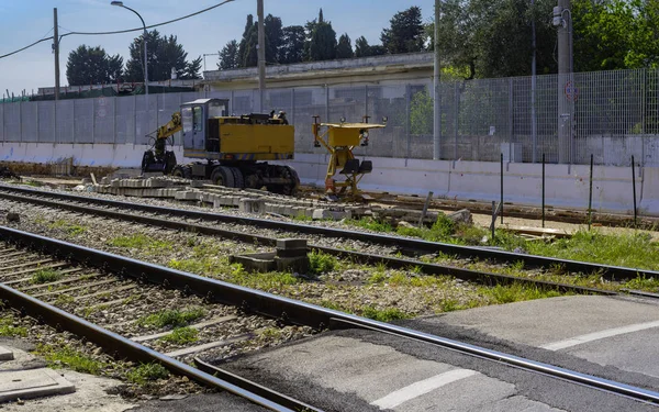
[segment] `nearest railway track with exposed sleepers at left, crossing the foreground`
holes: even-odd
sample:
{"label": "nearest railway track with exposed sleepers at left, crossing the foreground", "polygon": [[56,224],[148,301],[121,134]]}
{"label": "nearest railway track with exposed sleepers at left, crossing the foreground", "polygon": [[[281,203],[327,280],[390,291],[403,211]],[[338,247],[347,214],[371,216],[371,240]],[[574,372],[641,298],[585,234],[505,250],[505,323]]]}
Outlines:
{"label": "nearest railway track with exposed sleepers at left, crossing the foreground", "polygon": [[[143,304],[145,302],[141,300],[131,301],[124,298],[122,304],[119,304],[116,298],[123,297],[121,293],[127,290],[139,290],[141,293],[157,296],[158,300],[164,300],[166,304],[182,302],[191,304],[193,299],[197,299],[194,304],[208,310],[209,319],[192,326],[198,330],[216,326],[217,330],[211,335],[223,336],[221,339],[223,343],[232,338],[242,338],[249,333],[242,327],[226,327],[231,323],[241,324],[241,320],[246,314],[260,316],[264,322],[277,320],[280,323],[304,325],[316,331],[367,329],[425,342],[439,349],[458,350],[466,355],[504,363],[535,374],[549,375],[644,402],[659,402],[659,393],[643,388],[9,227],[0,226],[0,238],[2,240],[0,299],[4,304],[46,322],[53,327],[67,330],[94,342],[110,354],[135,361],[161,364],[175,374],[187,376],[211,388],[230,391],[275,411],[317,411],[319,409],[247,382],[235,375],[223,372],[199,359],[197,359],[198,367],[191,367],[180,360],[186,354],[202,353],[204,349],[200,349],[200,345],[192,347],[183,345],[174,352],[160,350],[157,345],[149,342],[171,333],[131,329],[134,318],[132,321],[116,322],[119,313],[130,312],[131,308],[135,308],[135,312],[143,316],[144,311],[148,311],[147,305]],[[57,280],[46,279],[43,282],[41,280],[35,282],[36,275],[43,270],[57,270],[60,277]],[[64,293],[70,294],[70,298],[62,299]],[[93,315],[96,312],[88,310],[90,307],[86,305],[86,302],[103,293],[109,299],[105,302],[108,313],[98,318]],[[177,301],[176,299],[180,299],[181,296],[186,297],[185,301]],[[110,304],[111,302],[113,303]],[[85,307],[81,308],[82,305]],[[123,308],[124,305],[127,308]],[[82,315],[71,312],[82,312]],[[190,323],[197,321],[199,320]],[[230,337],[224,337],[225,335]]]}

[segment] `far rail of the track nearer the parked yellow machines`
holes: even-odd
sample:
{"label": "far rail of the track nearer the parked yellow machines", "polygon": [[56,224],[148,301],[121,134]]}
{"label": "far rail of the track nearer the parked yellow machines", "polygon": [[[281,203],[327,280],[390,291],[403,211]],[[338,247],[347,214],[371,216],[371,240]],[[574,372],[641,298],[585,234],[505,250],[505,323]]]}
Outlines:
{"label": "far rail of the track nearer the parked yellow machines", "polygon": [[[139,210],[143,212],[149,212],[154,214],[169,214],[174,216],[180,216],[186,219],[196,219],[200,221],[211,221],[211,222],[225,222],[225,223],[237,223],[244,225],[253,225],[257,227],[266,227],[266,229],[275,229],[275,230],[283,230],[289,232],[299,232],[306,234],[316,234],[328,237],[337,237],[337,238],[351,238],[361,242],[369,242],[379,245],[393,246],[401,250],[415,250],[415,252],[424,252],[424,253],[444,253],[448,255],[456,255],[460,257],[478,257],[484,259],[494,259],[494,260],[503,260],[503,261],[524,261],[525,265],[532,267],[544,267],[550,268],[555,266],[560,266],[568,271],[573,272],[599,272],[604,278],[611,280],[628,280],[634,279],[638,276],[645,277],[655,277],[659,278],[659,271],[657,270],[647,270],[639,268],[629,268],[622,266],[612,266],[612,265],[601,265],[593,264],[588,261],[578,261],[570,259],[560,259],[552,257],[545,257],[538,255],[528,255],[521,254],[514,252],[504,252],[504,250],[495,250],[492,248],[485,247],[477,247],[477,246],[461,246],[461,245],[451,245],[447,243],[439,242],[428,242],[416,238],[409,237],[400,237],[400,236],[391,236],[391,235],[382,235],[375,233],[366,233],[359,232],[355,230],[339,230],[333,227],[323,227],[308,224],[299,224],[299,223],[290,223],[290,222],[281,222],[273,221],[267,219],[259,218],[241,218],[234,215],[227,215],[222,213],[208,213],[208,212],[198,212],[175,208],[165,208],[165,207],[155,207],[148,204],[138,204],[131,203],[124,201],[114,201],[114,200],[105,200],[92,197],[79,197],[67,193],[57,193],[57,192],[48,192],[43,190],[34,190],[27,188],[16,188],[7,185],[0,185],[0,198],[11,199],[11,194],[2,192],[4,191],[18,191],[32,196],[41,196],[41,197],[49,197],[66,201],[76,201],[76,202],[86,202],[92,203],[103,207],[111,207],[118,209],[130,209],[130,210]],[[25,200],[26,201],[26,200]]]}

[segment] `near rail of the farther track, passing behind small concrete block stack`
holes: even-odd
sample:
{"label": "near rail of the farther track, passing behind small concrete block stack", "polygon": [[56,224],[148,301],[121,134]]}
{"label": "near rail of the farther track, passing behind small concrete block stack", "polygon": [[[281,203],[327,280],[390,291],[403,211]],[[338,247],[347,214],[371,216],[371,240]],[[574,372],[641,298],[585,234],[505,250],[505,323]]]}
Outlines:
{"label": "near rail of the farther track, passing behind small concrete block stack", "polygon": [[[0,198],[5,197],[5,199],[11,199],[14,201],[23,201],[31,202],[34,204],[46,205],[46,207],[57,207],[62,209],[66,209],[74,212],[80,213],[92,213],[96,215],[112,218],[123,221],[132,221],[142,224],[149,224],[154,226],[174,229],[186,232],[201,233],[205,235],[221,236],[231,240],[237,240],[241,242],[246,242],[254,244],[259,243],[266,246],[273,246],[277,243],[277,238],[271,238],[267,236],[255,235],[250,233],[228,231],[219,227],[205,226],[194,223],[187,222],[177,222],[163,218],[153,218],[145,216],[139,214],[131,214],[126,212],[120,212],[109,209],[97,209],[87,205],[80,205],[68,202],[58,202],[54,200],[45,200],[33,197],[24,197],[20,194],[5,194],[0,192]],[[309,245],[309,248],[312,250],[320,250],[323,253],[327,253],[334,256],[340,256],[348,259],[353,259],[355,261],[360,261],[364,264],[379,264],[382,263],[391,268],[410,268],[410,267],[418,267],[422,272],[426,275],[445,275],[453,276],[457,279],[462,279],[467,281],[479,282],[483,285],[512,285],[512,283],[521,283],[525,286],[535,286],[544,289],[552,289],[561,292],[574,292],[582,294],[617,294],[615,291],[608,291],[603,289],[595,288],[585,288],[574,285],[568,283],[559,283],[546,280],[538,279],[528,279],[509,275],[493,274],[487,271],[471,270],[471,269],[462,269],[453,266],[438,265],[438,264],[429,264],[422,260],[411,259],[411,258],[401,258],[393,256],[382,256],[382,255],[372,255],[354,250],[345,250],[335,247],[320,246],[320,245]]]}

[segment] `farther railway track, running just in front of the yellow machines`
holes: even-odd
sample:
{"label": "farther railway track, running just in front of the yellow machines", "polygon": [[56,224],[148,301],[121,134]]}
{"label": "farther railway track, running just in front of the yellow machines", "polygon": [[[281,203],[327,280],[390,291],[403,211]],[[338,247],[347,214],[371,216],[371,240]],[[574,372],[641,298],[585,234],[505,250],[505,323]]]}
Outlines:
{"label": "farther railway track, running just in front of the yellow machines", "polygon": [[[560,267],[571,274],[597,274],[602,278],[612,281],[624,281],[637,277],[659,277],[659,271],[638,268],[601,265],[587,261],[558,259],[551,257],[505,252],[500,249],[460,246],[445,243],[427,242],[416,238],[390,236],[375,233],[359,232],[355,230],[340,230],[320,225],[299,224],[276,220],[257,218],[243,218],[222,213],[200,212],[176,208],[165,208],[144,203],[131,203],[123,201],[107,200],[93,197],[81,197],[68,193],[16,188],[0,185],[0,199],[16,202],[25,202],[47,208],[57,208],[78,213],[94,214],[99,216],[129,220],[132,222],[168,227],[179,231],[192,231],[201,234],[221,236],[247,243],[258,243],[272,246],[278,237],[288,234],[295,236],[323,236],[335,238],[336,243],[343,240],[351,240],[360,243],[361,247],[379,245],[388,247],[387,255],[373,255],[372,253],[359,253],[338,247],[324,245],[310,245],[311,249],[321,250],[335,256],[347,257],[364,263],[383,263],[392,268],[418,266],[423,272],[428,275],[449,275],[467,281],[478,281],[487,285],[492,283],[533,283],[548,287],[560,291],[596,292],[589,288],[578,288],[569,285],[559,285],[537,279],[511,277],[479,270],[463,269],[456,266],[428,264],[417,258],[424,254],[446,254],[463,259],[485,259],[498,263],[523,263],[524,267],[551,269]],[[255,230],[272,231],[271,236],[249,233],[237,230],[237,226],[253,227]],[[407,257],[400,257],[400,256]],[[599,291],[602,292],[602,291]]]}

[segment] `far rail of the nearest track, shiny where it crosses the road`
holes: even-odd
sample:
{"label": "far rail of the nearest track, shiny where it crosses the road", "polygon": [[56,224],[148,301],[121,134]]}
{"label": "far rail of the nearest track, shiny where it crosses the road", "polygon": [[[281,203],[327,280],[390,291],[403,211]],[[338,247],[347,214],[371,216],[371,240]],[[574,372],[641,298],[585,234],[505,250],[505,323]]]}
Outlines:
{"label": "far rail of the nearest track, shiny where it crosses the road", "polygon": [[[298,323],[311,327],[361,327],[382,333],[409,337],[462,354],[507,364],[527,371],[540,372],[571,382],[584,385],[633,398],[645,402],[659,403],[659,392],[626,383],[597,378],[592,375],[556,367],[540,361],[525,359],[515,355],[487,349],[428,333],[414,331],[403,326],[391,325],[370,319],[325,309],[315,304],[297,301],[272,293],[254,290],[215,279],[203,278],[132,258],[113,255],[102,250],[74,245],[67,242],[51,240],[44,236],[0,226],[1,238],[24,246],[40,249],[55,256],[66,256],[71,261],[86,264],[123,276],[131,276],[156,285],[182,289],[189,293],[205,297],[211,301],[242,307],[255,313],[277,318],[286,322]],[[0,290],[4,291],[7,287]],[[16,299],[16,298],[14,298]],[[15,302],[19,304],[20,302]],[[185,369],[182,369],[185,371]]]}

